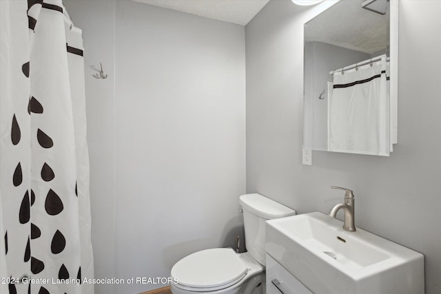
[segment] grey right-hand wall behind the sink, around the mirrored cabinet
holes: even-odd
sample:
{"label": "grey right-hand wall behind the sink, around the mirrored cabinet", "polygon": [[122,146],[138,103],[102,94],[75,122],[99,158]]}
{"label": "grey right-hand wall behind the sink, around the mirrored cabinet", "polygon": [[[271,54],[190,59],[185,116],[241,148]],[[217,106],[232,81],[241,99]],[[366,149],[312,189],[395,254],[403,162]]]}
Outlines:
{"label": "grey right-hand wall behind the sink, around the mirrored cabinet", "polygon": [[302,34],[309,8],[270,1],[246,26],[247,192],[327,213],[353,189],[356,225],[419,251],[441,292],[441,1],[400,1],[398,145],[390,158],[313,152],[301,165]]}

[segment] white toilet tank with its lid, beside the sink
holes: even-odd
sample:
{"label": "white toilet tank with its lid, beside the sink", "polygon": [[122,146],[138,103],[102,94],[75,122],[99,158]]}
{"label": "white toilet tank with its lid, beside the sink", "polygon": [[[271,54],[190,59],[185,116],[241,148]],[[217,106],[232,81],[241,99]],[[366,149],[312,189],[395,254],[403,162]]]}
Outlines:
{"label": "white toilet tank with its lid, beside the sink", "polygon": [[296,211],[258,193],[240,196],[239,203],[243,209],[247,251],[260,264],[265,265],[265,222],[294,216]]}

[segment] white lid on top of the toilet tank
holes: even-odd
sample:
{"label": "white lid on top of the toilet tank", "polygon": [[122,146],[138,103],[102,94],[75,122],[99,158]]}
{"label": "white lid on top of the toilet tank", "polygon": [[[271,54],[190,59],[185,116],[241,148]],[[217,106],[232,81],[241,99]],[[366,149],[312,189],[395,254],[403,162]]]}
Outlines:
{"label": "white lid on top of the toilet tank", "polygon": [[239,197],[239,202],[243,209],[247,209],[256,214],[256,216],[267,220],[285,218],[285,216],[294,216],[296,214],[295,210],[258,193],[242,195]]}

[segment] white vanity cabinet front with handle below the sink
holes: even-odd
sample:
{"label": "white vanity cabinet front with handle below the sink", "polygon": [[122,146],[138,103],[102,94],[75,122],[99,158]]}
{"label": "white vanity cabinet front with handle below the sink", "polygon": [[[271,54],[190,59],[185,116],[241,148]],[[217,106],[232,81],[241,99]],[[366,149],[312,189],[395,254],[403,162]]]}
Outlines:
{"label": "white vanity cabinet front with handle below the sink", "polygon": [[267,294],[314,294],[267,254]]}

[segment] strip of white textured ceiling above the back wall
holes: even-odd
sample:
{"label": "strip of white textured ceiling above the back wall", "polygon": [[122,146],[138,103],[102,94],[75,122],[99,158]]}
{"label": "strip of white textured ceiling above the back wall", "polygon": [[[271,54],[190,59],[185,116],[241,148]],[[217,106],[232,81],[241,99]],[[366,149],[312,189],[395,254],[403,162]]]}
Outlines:
{"label": "strip of white textured ceiling above the back wall", "polygon": [[246,25],[269,0],[133,0],[209,19]]}

